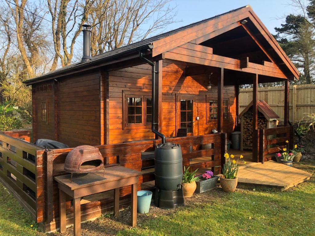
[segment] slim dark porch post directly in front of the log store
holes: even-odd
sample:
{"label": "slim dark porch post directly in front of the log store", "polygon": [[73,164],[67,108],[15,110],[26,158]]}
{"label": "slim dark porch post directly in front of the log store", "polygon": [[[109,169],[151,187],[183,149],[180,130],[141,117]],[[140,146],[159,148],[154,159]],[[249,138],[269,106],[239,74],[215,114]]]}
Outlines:
{"label": "slim dark porch post directly in front of the log store", "polygon": [[257,132],[257,90],[258,90],[258,74],[253,79],[253,161],[258,162],[258,132]]}

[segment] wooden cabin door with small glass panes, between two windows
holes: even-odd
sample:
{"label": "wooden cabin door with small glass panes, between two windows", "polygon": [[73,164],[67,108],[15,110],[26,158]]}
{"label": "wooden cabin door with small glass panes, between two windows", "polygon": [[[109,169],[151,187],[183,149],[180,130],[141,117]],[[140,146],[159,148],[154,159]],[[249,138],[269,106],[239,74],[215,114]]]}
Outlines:
{"label": "wooden cabin door with small glass panes, between two windows", "polygon": [[176,103],[176,133],[178,129],[187,129],[187,136],[194,135],[194,98],[191,96],[177,96]]}

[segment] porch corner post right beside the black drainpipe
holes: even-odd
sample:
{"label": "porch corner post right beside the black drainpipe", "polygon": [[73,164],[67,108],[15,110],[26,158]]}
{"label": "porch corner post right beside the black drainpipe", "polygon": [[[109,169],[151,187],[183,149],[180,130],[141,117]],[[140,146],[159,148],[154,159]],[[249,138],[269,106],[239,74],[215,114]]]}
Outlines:
{"label": "porch corner post right beside the black drainpipe", "polygon": [[[158,60],[155,63],[156,71],[158,72],[155,75],[155,121],[157,122],[156,129],[158,132],[162,132],[162,73],[163,73],[163,60]],[[158,139],[158,136],[155,135],[155,139]]]}

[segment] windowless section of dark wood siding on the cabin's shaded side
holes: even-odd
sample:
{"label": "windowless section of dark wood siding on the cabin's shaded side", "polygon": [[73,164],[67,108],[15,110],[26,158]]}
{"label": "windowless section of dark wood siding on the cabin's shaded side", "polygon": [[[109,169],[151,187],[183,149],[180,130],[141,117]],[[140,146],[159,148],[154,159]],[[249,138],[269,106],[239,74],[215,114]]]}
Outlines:
{"label": "windowless section of dark wood siding on the cabin's shaded side", "polygon": [[100,74],[58,83],[58,141],[70,147],[100,144]]}

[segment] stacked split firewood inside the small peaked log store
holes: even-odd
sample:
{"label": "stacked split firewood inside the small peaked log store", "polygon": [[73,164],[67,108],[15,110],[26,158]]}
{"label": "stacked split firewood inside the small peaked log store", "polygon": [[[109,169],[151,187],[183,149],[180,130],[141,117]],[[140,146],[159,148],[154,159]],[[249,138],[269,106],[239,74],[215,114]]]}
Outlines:
{"label": "stacked split firewood inside the small peaked log store", "polygon": [[[260,113],[260,112],[259,112]],[[251,116],[250,116],[251,115]],[[246,112],[243,116],[243,147],[253,146],[253,112]],[[267,128],[267,120],[262,114],[258,114],[257,127],[258,129]]]}

